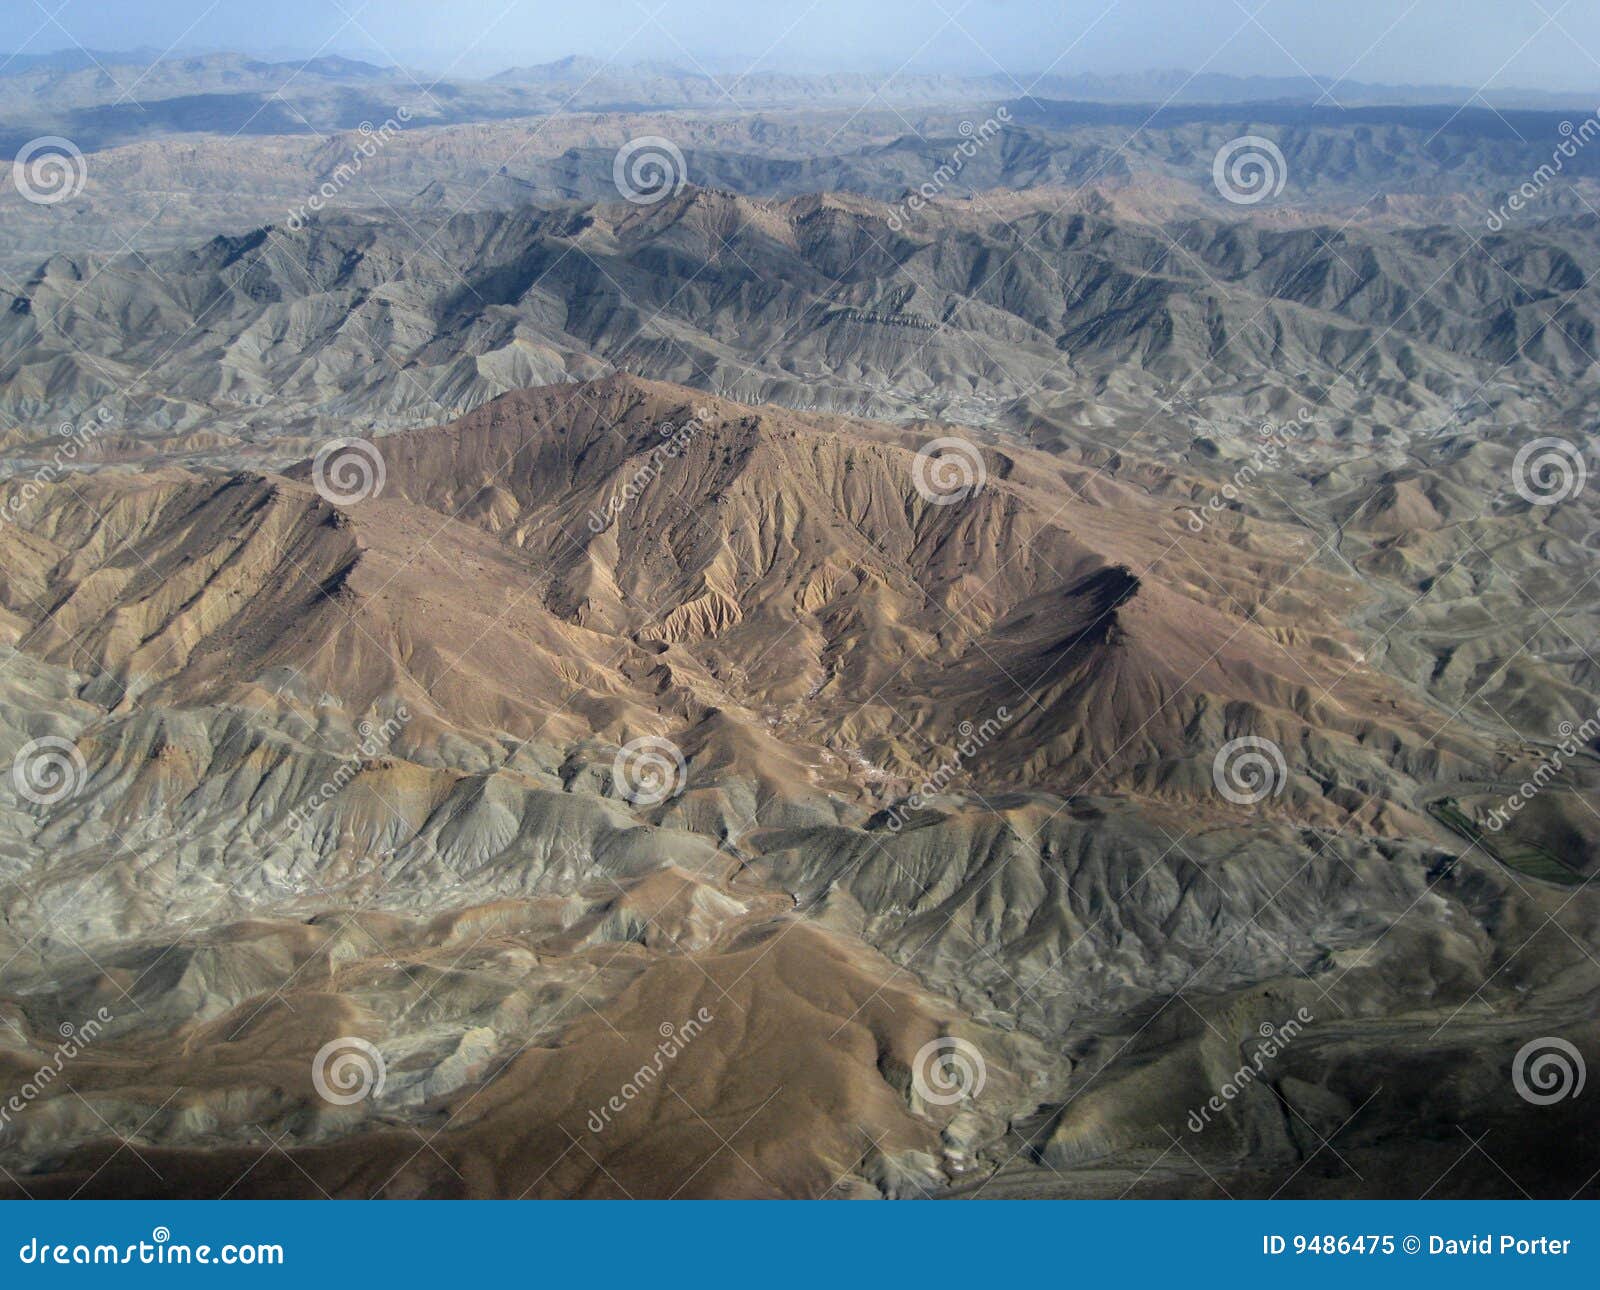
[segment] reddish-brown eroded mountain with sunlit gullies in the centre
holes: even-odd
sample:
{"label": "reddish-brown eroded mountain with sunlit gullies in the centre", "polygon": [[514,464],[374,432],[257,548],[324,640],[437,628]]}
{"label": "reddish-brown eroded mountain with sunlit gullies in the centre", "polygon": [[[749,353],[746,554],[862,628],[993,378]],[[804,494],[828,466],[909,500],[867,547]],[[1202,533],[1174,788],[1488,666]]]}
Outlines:
{"label": "reddish-brown eroded mountain with sunlit gullies in the centre", "polygon": [[403,703],[405,747],[448,731],[491,760],[714,730],[915,781],[997,720],[984,783],[1210,795],[1253,733],[1310,778],[1301,805],[1342,781],[1403,808],[1397,775],[1482,759],[1352,672],[1354,589],[1307,554],[1242,560],[1019,450],[968,445],[987,482],[941,504],[917,443],[630,378],[507,395],[376,440],[382,493],[347,506],[309,464],[51,490],[6,608],[112,706]]}

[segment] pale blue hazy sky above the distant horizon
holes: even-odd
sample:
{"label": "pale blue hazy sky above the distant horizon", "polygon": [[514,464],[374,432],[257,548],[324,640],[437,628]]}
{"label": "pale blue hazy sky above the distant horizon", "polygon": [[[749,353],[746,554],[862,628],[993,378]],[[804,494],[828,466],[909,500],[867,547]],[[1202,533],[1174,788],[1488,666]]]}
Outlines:
{"label": "pale blue hazy sky above the distant horizon", "polygon": [[458,75],[579,53],[710,70],[1184,67],[1600,86],[1600,0],[0,0],[0,48],[342,53]]}

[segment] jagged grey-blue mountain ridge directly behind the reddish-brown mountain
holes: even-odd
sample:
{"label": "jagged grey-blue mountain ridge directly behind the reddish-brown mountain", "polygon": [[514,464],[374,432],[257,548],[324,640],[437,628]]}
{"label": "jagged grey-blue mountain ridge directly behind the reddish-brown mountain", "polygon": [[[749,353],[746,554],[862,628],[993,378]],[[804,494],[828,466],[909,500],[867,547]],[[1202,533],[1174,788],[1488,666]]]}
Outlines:
{"label": "jagged grey-blue mountain ridge directly behind the reddish-brown mountain", "polygon": [[1315,403],[1365,434],[1373,416],[1432,431],[1498,376],[1563,400],[1595,371],[1590,216],[1483,237],[1002,221],[976,202],[894,221],[866,198],[686,189],[58,256],[0,291],[0,410],[27,424],[106,407],[158,434],[254,439],[414,426],[626,367],[1014,431],[1147,416],[1186,384],[1245,416]]}

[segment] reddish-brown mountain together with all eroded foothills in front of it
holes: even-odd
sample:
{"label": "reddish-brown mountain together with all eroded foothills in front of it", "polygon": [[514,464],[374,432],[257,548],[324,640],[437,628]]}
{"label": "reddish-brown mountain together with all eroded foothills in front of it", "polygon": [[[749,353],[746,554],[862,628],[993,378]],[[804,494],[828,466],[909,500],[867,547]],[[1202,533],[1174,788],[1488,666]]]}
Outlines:
{"label": "reddish-brown mountain together with all eroded foothills in front of it", "polygon": [[[930,499],[922,440],[619,376],[344,466],[13,480],[5,747],[48,731],[82,771],[6,816],[6,1060],[115,1020],[8,1168],[147,1192],[104,1117],[146,1120],[162,1194],[213,1194],[261,1132],[294,1146],[235,1194],[1094,1194],[1296,1010],[1339,1020],[1288,1109],[1192,1144],[1243,1191],[1355,1109],[1302,1063],[1392,1071],[1355,1168],[1453,1146],[1397,1136],[1406,1079],[1520,1127],[1504,1013],[1579,988],[1600,906],[1422,803],[1526,754],[1347,675],[1358,581],[1189,535],[1206,587],[1168,504],[1021,447]],[[1218,792],[1240,738],[1283,757],[1258,805]],[[640,739],[682,759],[664,789]],[[1546,919],[1571,939],[1518,952]],[[1466,1047],[1416,1047],[1478,1007]],[[354,1111],[306,1085],[334,1032],[386,1068]],[[984,1072],[958,1111],[939,1044]],[[154,1120],[152,1084],[179,1090]],[[749,1159],[706,1170],[702,1124]]]}

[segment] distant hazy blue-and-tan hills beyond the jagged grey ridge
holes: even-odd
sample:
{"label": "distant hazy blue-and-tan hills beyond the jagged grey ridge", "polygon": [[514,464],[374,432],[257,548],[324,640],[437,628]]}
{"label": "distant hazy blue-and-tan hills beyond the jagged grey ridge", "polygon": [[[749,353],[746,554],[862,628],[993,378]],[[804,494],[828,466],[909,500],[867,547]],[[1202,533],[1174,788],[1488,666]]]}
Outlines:
{"label": "distant hazy blue-and-tan hills beyond the jagged grey ridge", "polygon": [[[134,75],[117,74],[123,90],[110,80],[101,88],[115,99]],[[1011,85],[891,107],[877,99],[758,112],[632,102],[590,114],[528,102],[518,96],[531,91],[504,85],[493,102],[474,107],[470,96],[443,86],[350,82],[336,69],[296,78],[320,96],[315,102],[218,93],[224,77],[251,75],[259,72],[219,67],[203,93],[138,112],[112,101],[74,109],[70,118],[32,118],[24,94],[0,126],[0,155],[43,134],[66,136],[90,155],[61,200],[0,190],[0,266],[26,275],[58,251],[149,254],[318,213],[403,227],[422,211],[614,202],[614,163],[635,139],[667,139],[682,157],[669,157],[674,176],[701,187],[758,198],[850,192],[891,205],[906,227],[923,224],[930,206],[965,205],[995,219],[1043,210],[1277,230],[1454,224],[1478,235],[1504,232],[1507,218],[1533,226],[1600,208],[1594,154],[1568,138],[1579,130],[1582,139],[1592,126],[1573,110],[1117,106],[1018,98]],[[0,102],[3,94],[0,82]],[[128,117],[123,133],[118,114]],[[1248,203],[1226,198],[1214,162],[1235,139],[1266,139],[1277,152],[1258,144],[1238,158],[1248,176],[1259,154],[1277,192]]]}

